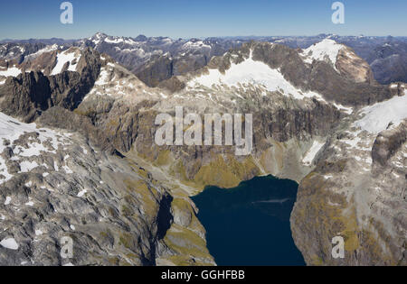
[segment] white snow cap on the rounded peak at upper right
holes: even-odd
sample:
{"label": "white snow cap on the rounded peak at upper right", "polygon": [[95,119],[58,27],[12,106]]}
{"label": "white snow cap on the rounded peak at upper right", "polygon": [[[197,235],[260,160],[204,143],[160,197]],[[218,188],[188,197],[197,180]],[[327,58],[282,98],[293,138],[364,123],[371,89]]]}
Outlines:
{"label": "white snow cap on the rounded peak at upper right", "polygon": [[339,44],[331,39],[325,39],[311,45],[307,50],[304,50],[301,55],[309,64],[311,64],[313,60],[329,61],[336,69],[336,58],[339,51],[343,48],[345,48],[343,44]]}

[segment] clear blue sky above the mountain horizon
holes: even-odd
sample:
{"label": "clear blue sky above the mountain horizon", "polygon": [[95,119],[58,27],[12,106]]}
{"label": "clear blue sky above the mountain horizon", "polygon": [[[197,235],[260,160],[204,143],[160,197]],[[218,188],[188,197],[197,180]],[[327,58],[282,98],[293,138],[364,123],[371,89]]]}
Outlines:
{"label": "clear blue sky above the mountain horizon", "polygon": [[0,0],[0,40],[80,39],[96,32],[171,38],[407,36],[406,0],[343,0],[344,24],[332,23],[336,0],[71,0],[72,24],[60,21],[62,2]]}

